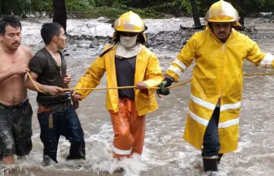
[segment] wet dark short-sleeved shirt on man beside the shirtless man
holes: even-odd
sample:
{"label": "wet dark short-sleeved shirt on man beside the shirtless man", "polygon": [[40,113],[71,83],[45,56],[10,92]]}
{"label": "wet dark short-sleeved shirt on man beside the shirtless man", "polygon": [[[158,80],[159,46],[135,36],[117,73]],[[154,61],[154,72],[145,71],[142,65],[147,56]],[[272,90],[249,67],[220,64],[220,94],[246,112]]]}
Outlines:
{"label": "wet dark short-sleeved shirt on man beside the shirtless man", "polygon": [[[30,71],[38,75],[37,82],[42,85],[47,86],[58,86],[60,88],[65,88],[64,77],[67,71],[67,62],[64,59],[64,55],[61,55],[61,66],[57,65],[57,62],[52,57],[52,55],[47,52],[45,48],[40,49],[28,64]],[[38,92],[38,96],[49,96]],[[52,104],[42,104],[41,105],[50,108],[55,112],[64,112],[71,105],[70,101],[58,102]]]}

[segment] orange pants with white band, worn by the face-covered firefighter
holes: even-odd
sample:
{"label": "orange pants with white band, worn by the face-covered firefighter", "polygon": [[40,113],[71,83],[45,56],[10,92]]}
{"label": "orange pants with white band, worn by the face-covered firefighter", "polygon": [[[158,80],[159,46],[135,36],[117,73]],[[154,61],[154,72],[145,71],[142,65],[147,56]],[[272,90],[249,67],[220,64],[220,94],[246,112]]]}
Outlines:
{"label": "orange pants with white band, worn by the face-covered firefighter", "polygon": [[138,116],[135,101],[119,100],[119,112],[110,110],[113,123],[113,157],[130,157],[132,153],[142,154],[144,146],[145,115]]}

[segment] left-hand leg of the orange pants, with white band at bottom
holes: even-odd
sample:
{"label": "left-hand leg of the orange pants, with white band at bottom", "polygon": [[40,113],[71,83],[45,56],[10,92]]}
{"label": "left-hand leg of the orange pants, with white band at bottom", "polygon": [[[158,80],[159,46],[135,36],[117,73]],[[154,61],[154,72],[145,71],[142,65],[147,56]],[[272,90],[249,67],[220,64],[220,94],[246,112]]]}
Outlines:
{"label": "left-hand leg of the orange pants, with white band at bottom", "polygon": [[119,100],[119,112],[112,110],[109,112],[114,131],[113,157],[130,157],[134,139],[130,134],[130,112],[127,109],[127,100]]}

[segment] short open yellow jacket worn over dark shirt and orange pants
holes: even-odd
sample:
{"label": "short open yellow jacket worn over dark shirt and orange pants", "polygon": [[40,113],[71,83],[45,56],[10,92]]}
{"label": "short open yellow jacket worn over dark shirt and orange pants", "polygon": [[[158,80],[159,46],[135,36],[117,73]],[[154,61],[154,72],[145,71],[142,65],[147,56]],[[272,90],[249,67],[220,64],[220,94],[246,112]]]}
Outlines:
{"label": "short open yellow jacket worn over dark shirt and orange pants", "polygon": [[[105,46],[105,49],[110,46]],[[89,69],[83,77],[80,78],[76,85],[76,88],[96,88],[101,81],[105,71],[107,72],[108,88],[117,87],[117,78],[115,70],[115,52],[116,46],[110,49],[103,57],[98,57],[96,61],[91,64]],[[136,59],[136,71],[135,71],[135,85],[139,81],[147,83],[148,87],[158,86],[163,81],[163,74],[159,66],[159,60],[157,57],[149,51],[146,47],[142,46],[142,51],[137,55]],[[132,85],[134,86],[134,85]],[[77,93],[84,99],[91,93],[91,90],[77,90]],[[135,90],[135,102],[137,113],[139,116],[145,115],[149,112],[153,112],[158,108],[156,102],[155,93],[156,89],[149,89],[147,93],[142,93],[139,90]],[[119,96],[117,89],[107,90],[106,107],[108,110],[114,112],[119,111]]]}

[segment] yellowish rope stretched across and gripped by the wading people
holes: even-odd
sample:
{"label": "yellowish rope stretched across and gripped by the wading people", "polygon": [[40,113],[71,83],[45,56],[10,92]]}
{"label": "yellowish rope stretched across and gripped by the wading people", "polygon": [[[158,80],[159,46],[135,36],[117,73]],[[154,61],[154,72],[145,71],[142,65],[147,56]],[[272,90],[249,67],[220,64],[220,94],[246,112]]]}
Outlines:
{"label": "yellowish rope stretched across and gripped by the wading people", "polygon": [[[35,86],[36,90],[40,93],[44,93],[40,88],[38,88],[33,81],[33,78],[30,76],[30,73],[27,71],[28,78],[30,78],[30,81],[33,83],[33,86]],[[271,76],[274,75],[274,73],[267,73],[267,74],[244,74],[244,76]],[[186,83],[189,83],[191,79],[188,79],[186,81],[183,81],[182,83],[176,83],[173,84],[173,86],[169,86],[166,88],[176,88],[178,86],[183,86]],[[136,88],[135,86],[123,86],[123,87],[116,87],[116,88],[63,88],[64,91],[71,91],[71,90],[109,90],[109,89],[125,89],[125,88]],[[148,89],[159,89],[159,87],[147,87]]]}

